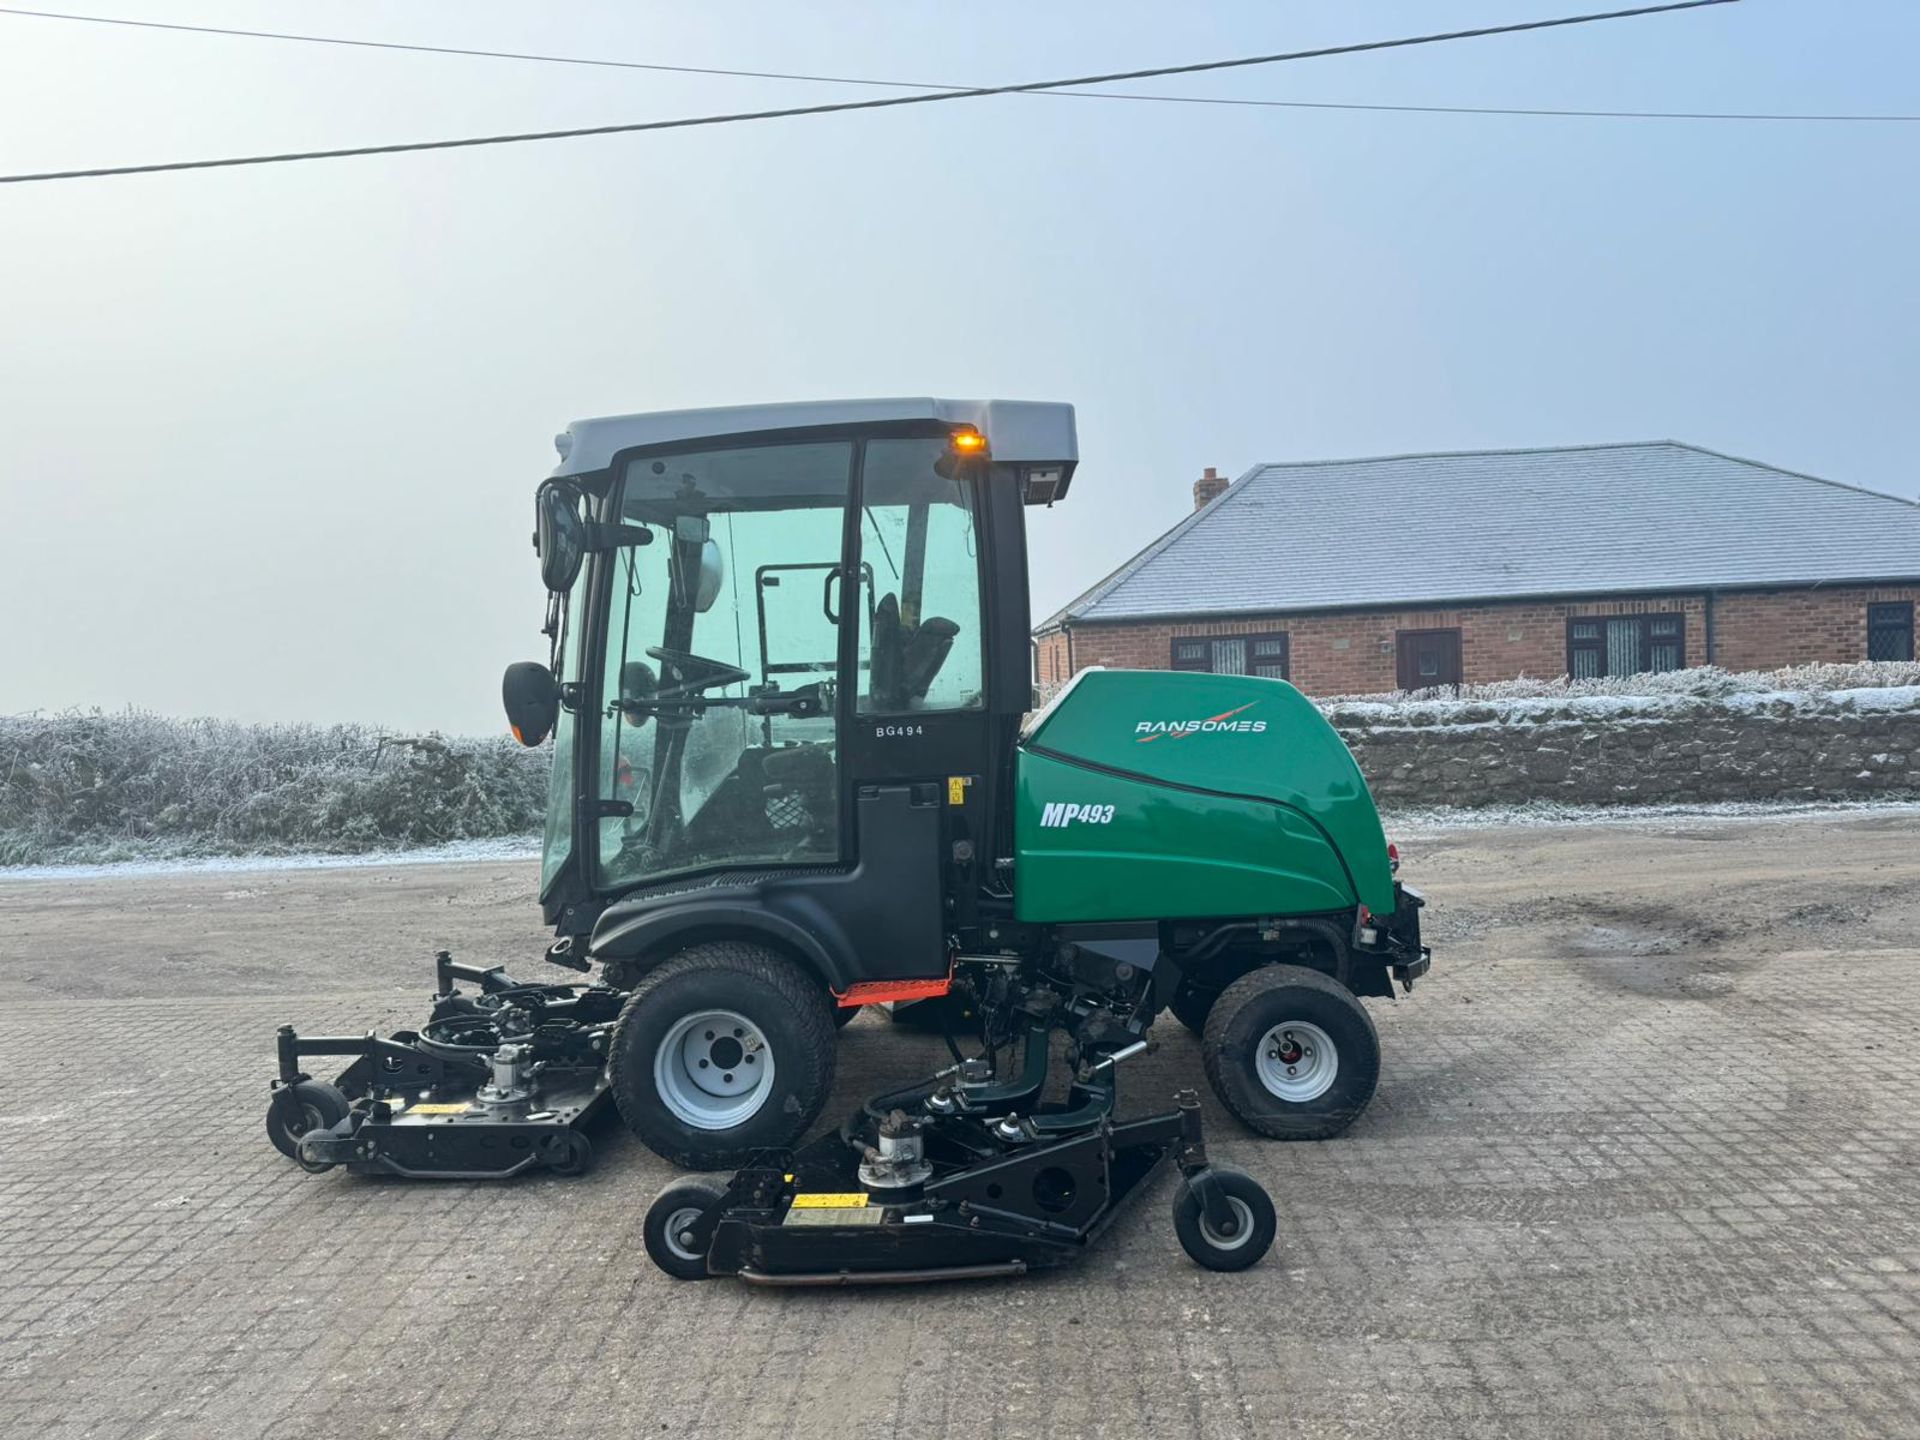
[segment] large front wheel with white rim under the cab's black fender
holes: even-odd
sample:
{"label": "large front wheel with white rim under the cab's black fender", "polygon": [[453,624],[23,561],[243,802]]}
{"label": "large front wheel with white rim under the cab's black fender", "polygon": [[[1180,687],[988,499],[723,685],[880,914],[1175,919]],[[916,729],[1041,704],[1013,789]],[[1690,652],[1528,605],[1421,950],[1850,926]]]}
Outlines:
{"label": "large front wheel with white rim under the cab's black fender", "polygon": [[747,941],[695,945],[641,977],[607,1075],[620,1117],[684,1169],[737,1169],[793,1144],[833,1087],[820,981]]}

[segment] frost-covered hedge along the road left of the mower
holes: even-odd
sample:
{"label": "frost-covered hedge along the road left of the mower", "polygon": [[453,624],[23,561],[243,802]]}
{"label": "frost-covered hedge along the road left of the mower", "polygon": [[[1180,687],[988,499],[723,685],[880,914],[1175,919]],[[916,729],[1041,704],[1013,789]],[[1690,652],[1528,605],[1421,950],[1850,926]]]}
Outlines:
{"label": "frost-covered hedge along the road left of the mower", "polygon": [[547,753],[146,710],[0,716],[0,864],[357,854],[540,829]]}

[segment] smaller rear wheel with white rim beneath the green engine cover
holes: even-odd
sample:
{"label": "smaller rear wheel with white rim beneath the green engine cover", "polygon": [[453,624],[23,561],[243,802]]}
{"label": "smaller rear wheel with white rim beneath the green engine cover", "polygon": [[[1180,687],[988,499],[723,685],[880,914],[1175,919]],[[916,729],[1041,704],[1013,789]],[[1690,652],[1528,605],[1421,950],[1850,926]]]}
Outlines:
{"label": "smaller rear wheel with white rim beneath the green engine cover", "polygon": [[1265,966],[1221,993],[1200,1060],[1221,1104],[1252,1129],[1275,1140],[1325,1140],[1373,1098],[1380,1037],[1340,981]]}

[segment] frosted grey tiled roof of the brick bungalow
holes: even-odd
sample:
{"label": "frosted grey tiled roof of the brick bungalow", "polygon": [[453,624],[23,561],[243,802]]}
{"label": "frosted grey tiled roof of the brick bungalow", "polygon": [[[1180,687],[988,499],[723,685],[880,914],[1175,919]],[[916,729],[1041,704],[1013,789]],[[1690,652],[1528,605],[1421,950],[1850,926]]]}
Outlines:
{"label": "frosted grey tiled roof of the brick bungalow", "polygon": [[1920,505],[1670,440],[1260,465],[1050,616],[1920,578]]}

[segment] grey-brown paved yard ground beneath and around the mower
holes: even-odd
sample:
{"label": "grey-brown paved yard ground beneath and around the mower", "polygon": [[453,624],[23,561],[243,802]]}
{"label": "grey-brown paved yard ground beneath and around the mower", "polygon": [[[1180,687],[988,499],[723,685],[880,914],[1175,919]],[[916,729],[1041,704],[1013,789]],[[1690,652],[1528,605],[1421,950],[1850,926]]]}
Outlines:
{"label": "grey-brown paved yard ground beneath and around the mower", "polygon": [[[0,883],[0,1434],[1920,1432],[1914,820],[1405,849],[1438,954],[1373,1004],[1371,1112],[1210,1104],[1263,1265],[1194,1267],[1162,1181],[1077,1271],[874,1292],[668,1281],[670,1169],[616,1131],[505,1185],[269,1148],[275,1025],[538,954],[526,864]],[[1158,1039],[1133,1110],[1198,1077]],[[829,1114],[933,1048],[862,1016],[841,1056]]]}

